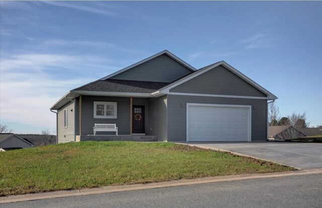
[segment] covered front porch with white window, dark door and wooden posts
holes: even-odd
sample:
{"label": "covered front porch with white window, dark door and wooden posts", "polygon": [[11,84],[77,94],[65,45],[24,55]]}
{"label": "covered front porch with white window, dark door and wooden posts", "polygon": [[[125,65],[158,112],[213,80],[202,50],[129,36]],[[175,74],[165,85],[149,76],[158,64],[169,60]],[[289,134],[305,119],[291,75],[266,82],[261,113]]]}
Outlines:
{"label": "covered front porch with white window, dark door and wooden posts", "polygon": [[[75,99],[75,141],[165,141],[165,97],[93,96]],[[96,124],[115,124],[97,131]]]}

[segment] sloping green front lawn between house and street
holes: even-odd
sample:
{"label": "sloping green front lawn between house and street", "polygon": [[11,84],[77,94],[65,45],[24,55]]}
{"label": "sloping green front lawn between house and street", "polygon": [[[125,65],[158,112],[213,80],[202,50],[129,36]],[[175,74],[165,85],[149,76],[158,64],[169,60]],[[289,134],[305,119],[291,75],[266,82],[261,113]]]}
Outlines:
{"label": "sloping green front lawn between house and street", "polygon": [[0,196],[294,170],[174,143],[79,142],[0,153]]}

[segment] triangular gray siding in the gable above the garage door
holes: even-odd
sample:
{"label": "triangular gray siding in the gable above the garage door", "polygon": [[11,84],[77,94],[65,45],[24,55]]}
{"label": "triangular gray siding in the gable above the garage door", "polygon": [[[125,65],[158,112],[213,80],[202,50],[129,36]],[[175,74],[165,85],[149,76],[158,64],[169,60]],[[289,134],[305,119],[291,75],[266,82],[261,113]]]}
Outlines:
{"label": "triangular gray siding in the gable above the garage door", "polygon": [[222,65],[210,69],[209,71],[170,89],[170,92],[267,96]]}

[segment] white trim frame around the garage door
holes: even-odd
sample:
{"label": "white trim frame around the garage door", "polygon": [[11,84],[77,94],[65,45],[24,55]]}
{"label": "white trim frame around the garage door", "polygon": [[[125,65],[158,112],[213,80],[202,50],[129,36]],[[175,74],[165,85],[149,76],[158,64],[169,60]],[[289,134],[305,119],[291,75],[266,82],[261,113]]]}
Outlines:
{"label": "white trim frame around the garage door", "polygon": [[252,141],[252,106],[249,105],[221,105],[221,104],[206,104],[206,103],[186,103],[186,141],[189,142],[189,107],[190,106],[211,106],[211,107],[229,107],[229,108],[247,108],[248,109],[248,138],[247,141]]}

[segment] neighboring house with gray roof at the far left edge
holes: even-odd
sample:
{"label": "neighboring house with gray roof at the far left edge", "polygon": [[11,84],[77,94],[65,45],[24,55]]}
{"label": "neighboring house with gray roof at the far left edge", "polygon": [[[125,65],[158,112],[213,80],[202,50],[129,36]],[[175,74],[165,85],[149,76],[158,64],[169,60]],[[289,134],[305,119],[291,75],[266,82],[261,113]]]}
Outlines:
{"label": "neighboring house with gray roof at the far left edge", "polygon": [[30,141],[22,139],[15,134],[0,134],[0,149],[11,150],[33,147]]}

